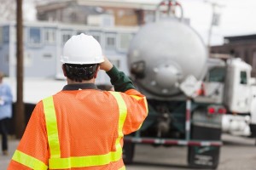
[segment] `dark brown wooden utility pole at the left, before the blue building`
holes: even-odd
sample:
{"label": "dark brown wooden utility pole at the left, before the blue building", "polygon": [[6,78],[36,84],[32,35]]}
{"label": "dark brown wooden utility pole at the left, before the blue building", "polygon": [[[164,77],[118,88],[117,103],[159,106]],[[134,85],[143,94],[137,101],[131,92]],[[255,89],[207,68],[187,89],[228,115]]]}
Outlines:
{"label": "dark brown wooden utility pole at the left, before the blue building", "polygon": [[15,135],[20,139],[25,130],[25,114],[23,103],[23,19],[22,0],[16,0],[16,30],[17,30],[17,101],[15,107]]}

